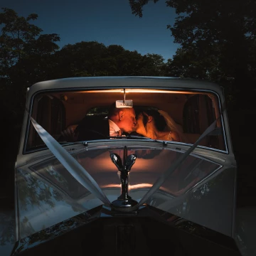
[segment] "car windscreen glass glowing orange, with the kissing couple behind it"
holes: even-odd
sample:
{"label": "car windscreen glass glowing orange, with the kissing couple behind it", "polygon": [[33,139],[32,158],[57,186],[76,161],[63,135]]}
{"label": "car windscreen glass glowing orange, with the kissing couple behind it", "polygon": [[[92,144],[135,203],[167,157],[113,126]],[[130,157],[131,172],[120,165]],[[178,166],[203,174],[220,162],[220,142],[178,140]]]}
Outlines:
{"label": "car windscreen glass glowing orange, with the kissing couple behind it", "polygon": [[[71,142],[113,139],[117,135],[111,133],[110,129],[117,129],[119,124],[116,126],[110,123],[110,107],[117,101],[124,100],[132,101],[133,107],[127,107],[125,110],[134,109],[134,117],[131,114],[131,118],[136,119],[137,126],[124,132],[121,135],[122,139],[127,135],[133,135],[137,139],[154,139],[152,136],[157,134],[157,139],[160,140],[194,144],[217,119],[215,131],[205,137],[199,146],[227,150],[223,120],[218,118],[219,97],[214,92],[137,88],[126,89],[124,97],[122,88],[46,91],[33,97],[30,111],[33,119],[60,144],[70,142],[70,138],[65,136],[70,130],[77,135]],[[119,115],[119,119],[122,119],[122,114]],[[149,124],[150,120],[154,122],[153,126]],[[79,132],[85,136],[79,137]],[[175,134],[178,134],[178,137],[175,137]],[[117,139],[120,137],[117,136]],[[25,152],[45,148],[46,145],[33,124],[29,122]]]}

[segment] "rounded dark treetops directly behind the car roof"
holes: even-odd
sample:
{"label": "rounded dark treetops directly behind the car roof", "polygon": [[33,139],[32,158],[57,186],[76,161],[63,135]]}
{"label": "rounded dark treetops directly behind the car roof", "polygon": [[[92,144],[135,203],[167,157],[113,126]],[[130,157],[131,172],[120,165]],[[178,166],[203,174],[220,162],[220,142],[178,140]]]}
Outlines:
{"label": "rounded dark treetops directly behind the car roof", "polygon": [[68,44],[55,53],[56,78],[78,76],[162,75],[164,58],[141,55],[122,46],[105,46],[97,41]]}

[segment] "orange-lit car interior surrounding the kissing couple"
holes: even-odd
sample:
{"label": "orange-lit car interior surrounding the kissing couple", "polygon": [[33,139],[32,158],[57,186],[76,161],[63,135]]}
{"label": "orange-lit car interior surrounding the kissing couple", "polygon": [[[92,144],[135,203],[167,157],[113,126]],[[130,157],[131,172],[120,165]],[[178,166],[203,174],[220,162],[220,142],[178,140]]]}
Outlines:
{"label": "orange-lit car interior surrounding the kissing couple", "polygon": [[[164,110],[174,119],[186,136],[183,143],[193,144],[206,128],[220,115],[218,95],[213,92],[183,90],[125,90],[127,100],[132,100],[136,107],[154,107]],[[60,132],[85,117],[107,117],[107,109],[113,102],[123,100],[124,89],[111,90],[56,90],[41,92],[34,96],[32,117],[56,140],[61,141]],[[217,121],[214,134],[204,138],[200,146],[225,151],[223,122]],[[26,151],[38,149],[43,142],[33,125],[30,124]]]}

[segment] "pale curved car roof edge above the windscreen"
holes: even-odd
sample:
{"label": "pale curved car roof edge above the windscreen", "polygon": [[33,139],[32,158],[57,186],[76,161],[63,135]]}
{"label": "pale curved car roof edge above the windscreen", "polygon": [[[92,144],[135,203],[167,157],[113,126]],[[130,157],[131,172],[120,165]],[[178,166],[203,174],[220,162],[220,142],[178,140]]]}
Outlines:
{"label": "pale curved car roof edge above the windscreen", "polygon": [[126,77],[85,77],[85,78],[62,78],[57,80],[48,80],[37,82],[29,88],[29,94],[40,90],[53,90],[65,88],[81,88],[81,87],[151,87],[166,89],[186,89],[186,90],[213,90],[218,94],[222,94],[222,88],[213,83],[204,80],[194,80],[188,78],[172,78],[172,77],[142,77],[142,76],[126,76]]}

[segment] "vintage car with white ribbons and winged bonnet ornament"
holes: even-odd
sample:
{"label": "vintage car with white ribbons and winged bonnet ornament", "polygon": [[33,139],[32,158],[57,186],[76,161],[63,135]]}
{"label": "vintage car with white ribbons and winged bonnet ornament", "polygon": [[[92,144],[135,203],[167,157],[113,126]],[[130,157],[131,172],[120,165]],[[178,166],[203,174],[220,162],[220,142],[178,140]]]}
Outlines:
{"label": "vintage car with white ribbons and winged bonnet ornament", "polygon": [[[164,131],[181,139],[136,130],[63,136],[67,127],[107,119],[113,102],[156,110]],[[159,77],[38,82],[26,97],[10,255],[241,255],[236,170],[218,85]]]}

